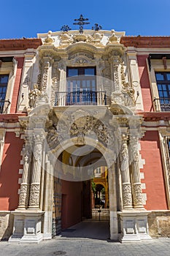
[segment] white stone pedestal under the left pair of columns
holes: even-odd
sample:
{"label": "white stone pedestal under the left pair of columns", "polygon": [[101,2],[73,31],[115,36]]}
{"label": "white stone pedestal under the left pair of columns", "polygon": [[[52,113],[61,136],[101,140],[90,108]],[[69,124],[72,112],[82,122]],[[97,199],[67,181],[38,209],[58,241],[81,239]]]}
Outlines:
{"label": "white stone pedestal under the left pair of columns", "polygon": [[14,227],[9,242],[39,243],[42,241],[42,216],[43,211],[13,211]]}

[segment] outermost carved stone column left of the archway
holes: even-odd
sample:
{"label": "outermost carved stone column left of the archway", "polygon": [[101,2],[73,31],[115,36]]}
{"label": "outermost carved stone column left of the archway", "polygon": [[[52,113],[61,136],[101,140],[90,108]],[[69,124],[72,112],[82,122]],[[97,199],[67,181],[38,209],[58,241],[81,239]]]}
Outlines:
{"label": "outermost carved stone column left of the archway", "polygon": [[28,140],[26,140],[26,144],[23,147],[23,177],[20,184],[20,197],[18,208],[28,207],[30,162],[31,145],[29,144]]}

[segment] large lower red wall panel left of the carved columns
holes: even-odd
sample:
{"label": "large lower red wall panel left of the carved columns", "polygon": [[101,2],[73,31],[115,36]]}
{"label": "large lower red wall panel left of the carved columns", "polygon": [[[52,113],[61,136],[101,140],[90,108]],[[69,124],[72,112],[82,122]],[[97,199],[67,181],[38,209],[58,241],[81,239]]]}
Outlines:
{"label": "large lower red wall panel left of the carved columns", "polygon": [[20,165],[20,151],[23,140],[15,137],[15,132],[5,135],[4,152],[0,171],[0,211],[12,211],[18,207],[18,173],[23,166]]}

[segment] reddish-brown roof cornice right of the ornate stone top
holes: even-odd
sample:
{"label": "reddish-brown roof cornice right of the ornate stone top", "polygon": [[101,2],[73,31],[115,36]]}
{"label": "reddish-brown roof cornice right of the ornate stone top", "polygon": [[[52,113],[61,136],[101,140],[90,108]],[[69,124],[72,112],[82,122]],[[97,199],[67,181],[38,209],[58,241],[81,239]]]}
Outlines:
{"label": "reddish-brown roof cornice right of the ornate stone top", "polygon": [[121,37],[120,43],[125,47],[170,48],[170,37]]}

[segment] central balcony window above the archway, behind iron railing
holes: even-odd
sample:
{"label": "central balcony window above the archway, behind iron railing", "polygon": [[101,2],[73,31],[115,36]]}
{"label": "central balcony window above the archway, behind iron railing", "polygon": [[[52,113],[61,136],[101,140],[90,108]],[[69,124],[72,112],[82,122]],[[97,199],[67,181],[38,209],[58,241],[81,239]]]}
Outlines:
{"label": "central balcony window above the archway, behind iron railing", "polygon": [[67,68],[66,104],[96,104],[96,68]]}

